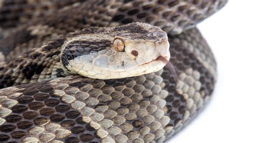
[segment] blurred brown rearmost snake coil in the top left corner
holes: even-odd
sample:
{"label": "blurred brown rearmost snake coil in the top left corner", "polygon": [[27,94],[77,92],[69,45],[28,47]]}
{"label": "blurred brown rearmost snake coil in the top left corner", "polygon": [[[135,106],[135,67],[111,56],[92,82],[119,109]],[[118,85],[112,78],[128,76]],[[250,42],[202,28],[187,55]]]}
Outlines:
{"label": "blurred brown rearmost snake coil in the top left corner", "polygon": [[[49,4],[49,2],[51,4]],[[33,17],[43,17],[49,13],[56,12],[64,6],[71,5],[79,0],[65,1],[28,1],[28,0],[4,0],[0,8],[0,26],[1,27],[16,27],[20,24],[29,22]]]}

